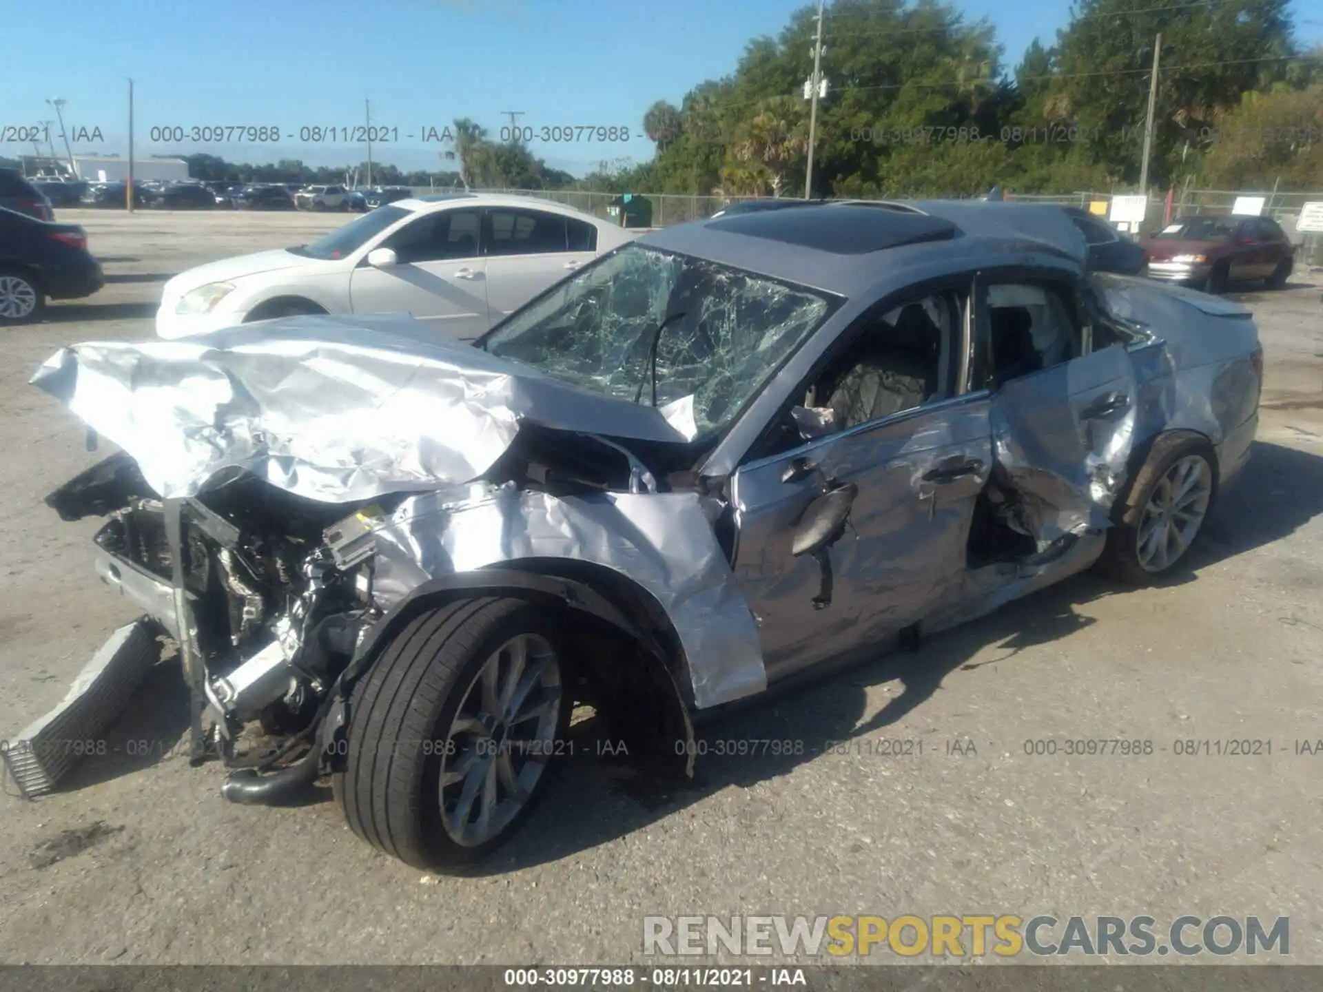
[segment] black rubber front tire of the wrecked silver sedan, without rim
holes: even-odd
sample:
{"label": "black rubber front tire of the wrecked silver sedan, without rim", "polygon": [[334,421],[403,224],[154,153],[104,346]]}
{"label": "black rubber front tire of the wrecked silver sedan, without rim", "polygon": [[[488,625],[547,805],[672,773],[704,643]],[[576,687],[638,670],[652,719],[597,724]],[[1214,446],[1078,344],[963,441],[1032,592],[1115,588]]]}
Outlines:
{"label": "black rubber front tire of the wrecked silver sedan, without rim", "polygon": [[557,655],[562,688],[556,734],[564,739],[572,705],[558,631],[554,611],[504,597],[447,603],[410,622],[351,694],[345,768],[332,779],[349,828],[392,857],[425,869],[459,868],[508,840],[545,792],[553,763],[509,823],[486,843],[466,847],[442,820],[442,749],[421,742],[448,739],[487,659],[521,634],[544,638]]}

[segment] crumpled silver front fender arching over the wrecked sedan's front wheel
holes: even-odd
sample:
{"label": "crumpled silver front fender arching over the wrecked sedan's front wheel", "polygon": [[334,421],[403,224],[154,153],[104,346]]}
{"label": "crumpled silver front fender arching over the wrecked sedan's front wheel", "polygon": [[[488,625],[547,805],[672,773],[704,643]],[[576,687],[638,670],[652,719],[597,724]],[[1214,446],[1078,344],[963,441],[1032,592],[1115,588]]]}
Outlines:
{"label": "crumpled silver front fender arching over the wrecked sedan's front wheel", "polygon": [[373,595],[389,608],[438,575],[570,558],[647,590],[684,648],[700,709],[767,686],[758,630],[697,493],[556,497],[474,484],[411,496],[372,524]]}

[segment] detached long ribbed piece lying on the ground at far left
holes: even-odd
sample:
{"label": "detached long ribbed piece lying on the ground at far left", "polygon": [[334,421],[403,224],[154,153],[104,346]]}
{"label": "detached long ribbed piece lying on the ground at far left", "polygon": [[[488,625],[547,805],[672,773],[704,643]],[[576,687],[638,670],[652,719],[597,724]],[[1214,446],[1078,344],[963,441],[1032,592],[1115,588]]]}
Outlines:
{"label": "detached long ribbed piece lying on the ground at far left", "polygon": [[60,705],[9,743],[4,763],[24,798],[54,791],[83,757],[71,742],[95,739],[119,716],[160,660],[157,634],[160,627],[146,616],[120,627],[87,663]]}

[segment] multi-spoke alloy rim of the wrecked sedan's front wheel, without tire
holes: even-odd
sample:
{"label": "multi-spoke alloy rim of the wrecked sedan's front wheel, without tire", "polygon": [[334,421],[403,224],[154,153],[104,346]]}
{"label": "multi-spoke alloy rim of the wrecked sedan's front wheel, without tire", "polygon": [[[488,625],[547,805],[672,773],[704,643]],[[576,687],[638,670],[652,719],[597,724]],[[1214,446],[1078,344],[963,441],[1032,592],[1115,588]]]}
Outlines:
{"label": "multi-spoke alloy rim of the wrecked sedan's front wheel, without tire", "polygon": [[463,847],[487,843],[519,815],[556,747],[561,668],[545,638],[520,634],[474,676],[446,733],[441,819]]}

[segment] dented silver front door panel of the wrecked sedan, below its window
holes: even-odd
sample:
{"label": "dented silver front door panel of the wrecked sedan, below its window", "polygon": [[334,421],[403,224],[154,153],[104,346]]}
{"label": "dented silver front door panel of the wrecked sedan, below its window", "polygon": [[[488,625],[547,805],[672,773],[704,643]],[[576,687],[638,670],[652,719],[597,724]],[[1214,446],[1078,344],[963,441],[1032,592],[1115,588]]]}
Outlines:
{"label": "dented silver front door panel of the wrecked sedan, below its window", "polygon": [[[795,459],[820,470],[783,481]],[[986,393],[897,414],[741,468],[733,480],[734,571],[759,623],[769,681],[921,619],[963,589],[974,501],[992,463]],[[794,557],[808,503],[856,483],[844,536],[828,552],[832,602],[815,608],[822,569]]]}

